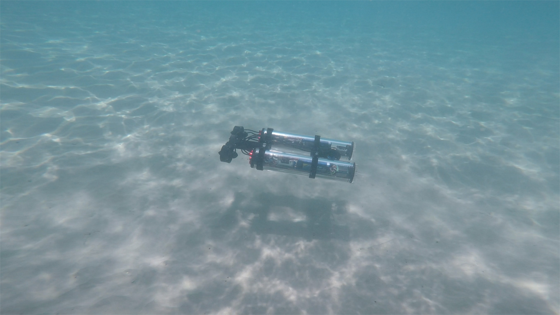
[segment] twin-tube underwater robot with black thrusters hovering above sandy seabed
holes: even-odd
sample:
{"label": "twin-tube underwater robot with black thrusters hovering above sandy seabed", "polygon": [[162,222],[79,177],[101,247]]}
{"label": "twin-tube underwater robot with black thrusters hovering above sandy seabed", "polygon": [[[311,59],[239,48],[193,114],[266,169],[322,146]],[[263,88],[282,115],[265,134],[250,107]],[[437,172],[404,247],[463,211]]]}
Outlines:
{"label": "twin-tube underwater robot with black thrusters hovering above sandy seabed", "polygon": [[[302,136],[295,133],[263,128],[260,131],[235,126],[230,140],[222,146],[220,161],[231,163],[239,149],[249,156],[251,168],[272,170],[309,178],[326,178],[352,183],[356,163],[350,162],[354,142],[339,141],[321,136]],[[341,158],[347,161],[340,161]]]}

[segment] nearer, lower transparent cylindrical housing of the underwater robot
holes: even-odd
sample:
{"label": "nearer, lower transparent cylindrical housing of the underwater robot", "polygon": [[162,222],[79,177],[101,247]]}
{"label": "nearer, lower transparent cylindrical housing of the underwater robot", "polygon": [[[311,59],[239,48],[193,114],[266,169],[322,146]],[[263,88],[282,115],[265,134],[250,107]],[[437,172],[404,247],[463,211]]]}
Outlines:
{"label": "nearer, lower transparent cylindrical housing of the underwater robot", "polygon": [[[322,141],[323,139],[321,138]],[[309,175],[312,158],[311,156],[281,152],[274,149],[255,149],[251,152],[249,163],[251,168],[255,168],[256,165],[262,165],[262,169],[266,170]],[[355,172],[356,163],[319,158],[315,176],[352,183]]]}

